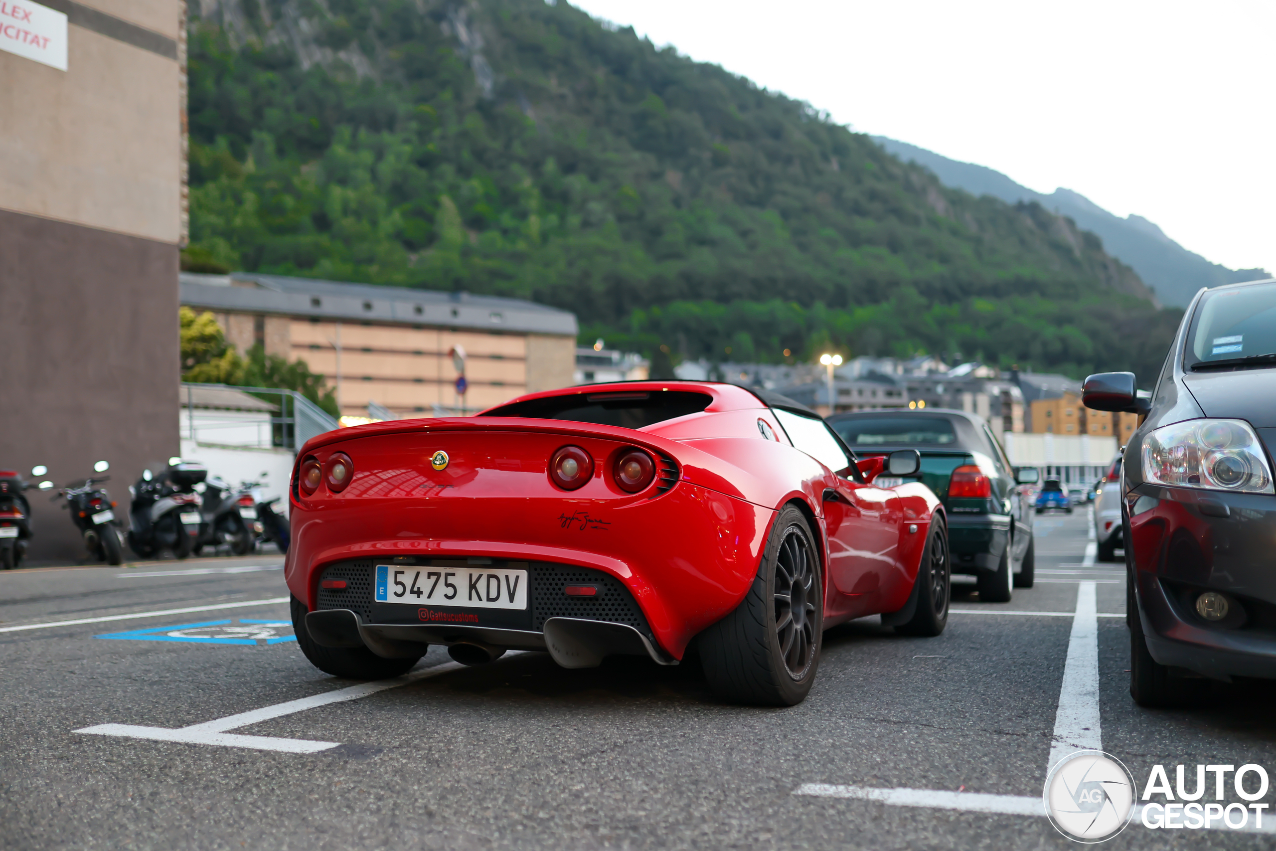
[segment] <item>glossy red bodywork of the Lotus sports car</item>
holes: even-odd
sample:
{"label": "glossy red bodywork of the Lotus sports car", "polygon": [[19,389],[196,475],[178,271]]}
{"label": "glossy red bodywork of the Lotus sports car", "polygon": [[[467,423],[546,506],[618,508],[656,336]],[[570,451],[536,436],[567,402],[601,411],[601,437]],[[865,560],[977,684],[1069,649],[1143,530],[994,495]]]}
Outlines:
{"label": "glossy red bodywork of the Lotus sports car", "polygon": [[[753,393],[647,381],[518,401],[665,389],[708,394],[712,402],[703,412],[639,430],[477,416],[378,422],[314,438],[299,466],[342,452],[353,477],[341,492],[320,485],[308,496],[293,470],[288,588],[314,610],[325,565],[356,558],[579,565],[621,581],[658,644],[681,658],[697,633],[744,598],[772,521],[785,504],[798,503],[820,538],[826,626],[907,602],[931,517],[942,510],[938,499],[923,485],[883,490],[838,478],[795,449]],[[549,459],[569,444],[584,448],[595,470],[584,486],[564,491],[549,476]],[[621,490],[611,463],[632,447],[676,462],[676,484],[658,494],[655,485],[638,494]],[[441,471],[430,463],[440,449],[449,457]]]}

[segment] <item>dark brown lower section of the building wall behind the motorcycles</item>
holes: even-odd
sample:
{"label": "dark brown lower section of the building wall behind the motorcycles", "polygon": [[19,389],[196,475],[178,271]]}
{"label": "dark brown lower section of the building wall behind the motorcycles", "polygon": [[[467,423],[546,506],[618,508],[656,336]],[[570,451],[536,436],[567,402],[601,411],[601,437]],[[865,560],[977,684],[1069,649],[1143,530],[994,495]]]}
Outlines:
{"label": "dark brown lower section of the building wall behind the motorcycles", "polygon": [[[0,466],[59,485],[111,462],[125,509],[177,452],[177,246],[0,211]],[[80,559],[66,512],[28,494],[28,558]]]}

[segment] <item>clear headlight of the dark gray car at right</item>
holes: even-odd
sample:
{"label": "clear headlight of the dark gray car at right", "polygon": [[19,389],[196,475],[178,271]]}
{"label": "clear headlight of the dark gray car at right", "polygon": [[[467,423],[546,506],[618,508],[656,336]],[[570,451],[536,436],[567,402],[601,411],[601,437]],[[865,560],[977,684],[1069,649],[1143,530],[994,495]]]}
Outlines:
{"label": "clear headlight of the dark gray car at right", "polygon": [[1188,420],[1143,440],[1143,477],[1157,485],[1271,494],[1272,473],[1244,420]]}

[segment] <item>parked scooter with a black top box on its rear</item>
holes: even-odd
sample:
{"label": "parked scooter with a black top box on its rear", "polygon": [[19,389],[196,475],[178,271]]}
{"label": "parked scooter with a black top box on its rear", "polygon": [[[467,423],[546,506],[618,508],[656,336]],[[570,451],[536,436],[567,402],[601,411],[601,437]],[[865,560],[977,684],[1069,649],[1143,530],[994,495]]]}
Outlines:
{"label": "parked scooter with a black top box on its rear", "polygon": [[142,472],[142,478],[129,487],[129,549],[138,558],[149,559],[160,550],[171,550],[179,559],[190,555],[203,522],[203,500],[195,485],[207,477],[207,467],[181,458],[170,458],[156,475]]}

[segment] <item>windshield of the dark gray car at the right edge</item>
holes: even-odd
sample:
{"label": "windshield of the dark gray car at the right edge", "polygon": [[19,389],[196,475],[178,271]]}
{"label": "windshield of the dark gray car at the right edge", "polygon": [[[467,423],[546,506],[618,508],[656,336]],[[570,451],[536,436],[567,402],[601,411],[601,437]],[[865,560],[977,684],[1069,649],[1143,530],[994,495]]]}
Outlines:
{"label": "windshield of the dark gray car at the right edge", "polygon": [[1276,283],[1207,292],[1197,307],[1185,366],[1208,367],[1248,357],[1276,361]]}

